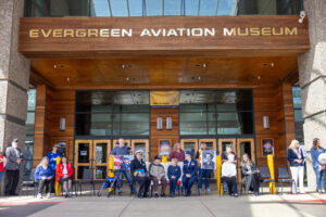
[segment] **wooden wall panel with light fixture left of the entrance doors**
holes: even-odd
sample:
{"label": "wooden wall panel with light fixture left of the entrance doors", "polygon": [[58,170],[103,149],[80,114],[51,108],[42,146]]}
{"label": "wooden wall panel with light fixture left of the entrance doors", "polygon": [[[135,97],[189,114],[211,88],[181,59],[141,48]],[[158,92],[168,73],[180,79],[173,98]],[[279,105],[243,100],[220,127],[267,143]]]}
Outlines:
{"label": "wooden wall panel with light fixture left of the entrance doors", "polygon": [[[37,86],[34,142],[34,167],[58,141],[65,141],[67,157],[73,161],[74,146],[74,90],[52,90]],[[66,118],[66,129],[60,131],[60,118]]]}

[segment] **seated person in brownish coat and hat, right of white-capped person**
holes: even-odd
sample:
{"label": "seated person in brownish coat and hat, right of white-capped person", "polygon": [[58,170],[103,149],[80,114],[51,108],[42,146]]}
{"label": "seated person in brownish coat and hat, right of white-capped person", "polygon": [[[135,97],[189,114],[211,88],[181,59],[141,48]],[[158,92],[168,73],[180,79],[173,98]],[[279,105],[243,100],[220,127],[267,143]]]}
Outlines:
{"label": "seated person in brownish coat and hat, right of white-capped person", "polygon": [[159,197],[159,186],[161,186],[161,196],[165,196],[166,178],[164,166],[161,164],[161,157],[155,156],[154,162],[149,166],[149,175],[154,186],[154,196]]}

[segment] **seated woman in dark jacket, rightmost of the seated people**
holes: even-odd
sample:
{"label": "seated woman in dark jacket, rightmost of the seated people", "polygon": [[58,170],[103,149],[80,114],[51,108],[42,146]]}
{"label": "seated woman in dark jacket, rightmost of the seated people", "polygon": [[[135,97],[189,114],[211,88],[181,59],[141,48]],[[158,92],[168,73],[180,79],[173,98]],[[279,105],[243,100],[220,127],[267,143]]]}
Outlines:
{"label": "seated woman in dark jacket, rightmost of the seated people", "polygon": [[246,192],[249,190],[254,192],[254,195],[260,194],[260,177],[255,165],[250,161],[248,154],[243,154],[241,158],[241,178],[242,182],[247,183]]}

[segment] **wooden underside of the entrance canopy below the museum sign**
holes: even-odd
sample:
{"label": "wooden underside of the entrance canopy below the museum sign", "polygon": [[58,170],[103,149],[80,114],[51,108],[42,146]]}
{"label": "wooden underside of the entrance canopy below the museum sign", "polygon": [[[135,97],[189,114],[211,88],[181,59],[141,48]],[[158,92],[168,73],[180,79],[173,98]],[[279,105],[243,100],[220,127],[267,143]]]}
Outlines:
{"label": "wooden underside of the entrance canopy below the museum sign", "polygon": [[253,87],[297,72],[297,56],[33,59],[30,80],[59,89]]}

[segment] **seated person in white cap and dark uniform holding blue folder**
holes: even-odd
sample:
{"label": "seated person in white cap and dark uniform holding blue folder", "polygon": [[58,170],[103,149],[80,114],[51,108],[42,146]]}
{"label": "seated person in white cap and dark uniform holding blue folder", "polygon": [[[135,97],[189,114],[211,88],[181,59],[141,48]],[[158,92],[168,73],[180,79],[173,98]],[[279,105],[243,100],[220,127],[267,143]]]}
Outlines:
{"label": "seated person in white cap and dark uniform holding blue folder", "polygon": [[149,187],[151,183],[150,178],[147,175],[146,163],[142,159],[142,151],[135,152],[135,158],[130,163],[130,173],[133,176],[133,182],[139,182],[138,197],[149,197]]}

